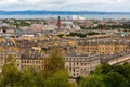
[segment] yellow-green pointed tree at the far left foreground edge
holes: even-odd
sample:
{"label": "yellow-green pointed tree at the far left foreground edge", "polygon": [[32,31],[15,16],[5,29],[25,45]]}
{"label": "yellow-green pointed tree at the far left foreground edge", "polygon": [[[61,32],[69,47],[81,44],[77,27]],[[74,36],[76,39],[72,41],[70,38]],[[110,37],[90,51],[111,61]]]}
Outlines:
{"label": "yellow-green pointed tree at the far left foreground edge", "polygon": [[15,62],[15,58],[12,55],[5,59],[5,64],[0,75],[0,87],[20,87],[21,72],[16,67]]}

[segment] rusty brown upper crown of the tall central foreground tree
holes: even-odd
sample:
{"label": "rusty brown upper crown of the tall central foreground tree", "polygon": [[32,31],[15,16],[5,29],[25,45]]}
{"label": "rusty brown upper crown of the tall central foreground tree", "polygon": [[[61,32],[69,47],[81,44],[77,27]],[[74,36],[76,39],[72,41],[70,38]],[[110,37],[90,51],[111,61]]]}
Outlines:
{"label": "rusty brown upper crown of the tall central foreground tree", "polygon": [[50,58],[47,58],[46,64],[44,64],[44,75],[51,76],[58,70],[65,70],[64,69],[64,59],[62,58],[61,53],[53,51],[53,53],[50,55]]}

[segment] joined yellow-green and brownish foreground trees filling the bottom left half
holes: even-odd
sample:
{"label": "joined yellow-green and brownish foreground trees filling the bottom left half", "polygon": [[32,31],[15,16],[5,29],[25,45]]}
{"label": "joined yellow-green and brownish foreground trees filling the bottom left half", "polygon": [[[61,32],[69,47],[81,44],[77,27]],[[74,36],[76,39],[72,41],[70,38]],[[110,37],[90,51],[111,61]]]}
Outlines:
{"label": "joined yellow-green and brownish foreground trees filling the bottom left half", "polygon": [[44,69],[18,70],[15,58],[9,57],[0,73],[0,87],[75,87],[69,84],[68,72],[64,69],[64,60],[53,53],[46,61]]}

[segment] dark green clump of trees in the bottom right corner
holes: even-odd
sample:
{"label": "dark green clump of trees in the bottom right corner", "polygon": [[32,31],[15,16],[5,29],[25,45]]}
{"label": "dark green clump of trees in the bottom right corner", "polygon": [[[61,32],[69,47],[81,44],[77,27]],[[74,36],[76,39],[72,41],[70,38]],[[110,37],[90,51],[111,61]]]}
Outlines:
{"label": "dark green clump of trees in the bottom right corner", "polygon": [[100,65],[87,77],[77,77],[79,87],[130,87],[130,64]]}

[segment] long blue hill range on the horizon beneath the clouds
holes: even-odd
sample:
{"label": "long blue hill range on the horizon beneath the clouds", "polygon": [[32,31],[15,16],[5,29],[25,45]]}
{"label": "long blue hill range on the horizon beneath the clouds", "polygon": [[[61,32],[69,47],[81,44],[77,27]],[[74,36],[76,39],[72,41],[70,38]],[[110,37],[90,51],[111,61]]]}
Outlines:
{"label": "long blue hill range on the horizon beneath the clouds", "polygon": [[0,15],[81,15],[81,14],[130,14],[130,12],[96,12],[96,11],[0,11]]}

